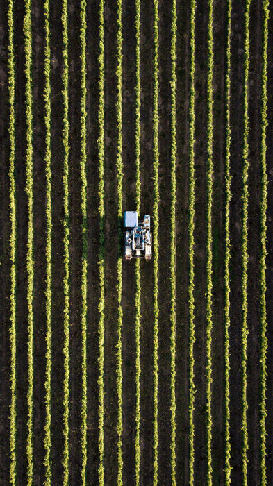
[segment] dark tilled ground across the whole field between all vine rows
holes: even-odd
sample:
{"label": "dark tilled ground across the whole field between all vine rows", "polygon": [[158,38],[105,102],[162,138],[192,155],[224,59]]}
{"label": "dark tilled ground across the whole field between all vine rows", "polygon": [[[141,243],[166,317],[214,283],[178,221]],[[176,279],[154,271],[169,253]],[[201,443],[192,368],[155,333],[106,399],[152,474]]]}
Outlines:
{"label": "dark tilled ground across the whole field between all vine rows", "polygon": [[[3,2],[2,2],[3,6]],[[51,3],[51,153],[52,153],[52,484],[63,477],[63,97],[61,3]],[[241,465],[241,221],[242,135],[244,85],[244,8],[233,2],[231,35],[231,480],[242,483]],[[17,478],[26,483],[27,301],[26,242],[27,198],[26,115],[24,85],[24,4],[15,0],[16,60],[16,196],[17,196]],[[105,483],[117,482],[117,5],[105,3],[105,344],[104,430]],[[171,484],[170,462],[170,153],[171,153],[171,22],[172,2],[159,1],[159,387],[158,480]],[[8,139],[8,26],[6,6],[1,15],[0,137],[0,461],[1,484],[9,476],[10,349],[8,328],[9,261],[9,139]],[[224,169],[225,169],[225,42],[226,6],[214,1],[213,78],[213,483],[224,484]],[[70,378],[69,378],[69,480],[81,484],[81,174],[80,174],[80,13],[76,0],[68,1],[69,31],[69,224],[70,224]],[[98,302],[99,213],[97,187],[99,135],[99,0],[88,1],[87,41],[87,179],[88,179],[88,463],[87,483],[98,484]],[[259,483],[259,283],[260,256],[260,75],[262,1],[252,2],[249,70],[249,299],[248,299],[248,412],[249,485]],[[34,196],[34,484],[44,481],[44,374],[45,374],[45,172],[44,172],[44,12],[41,0],[33,0],[33,196]],[[135,2],[124,1],[123,22],[123,209],[135,208]],[[141,214],[153,211],[153,56],[154,12],[151,1],[141,2]],[[176,480],[188,485],[188,158],[190,90],[190,1],[177,0],[177,165],[176,165]],[[270,11],[270,31],[273,10]],[[207,1],[197,1],[195,63],[195,484],[206,480],[206,160],[207,160]],[[267,478],[272,478],[272,377],[273,377],[273,47],[268,49],[267,174]],[[140,483],[153,478],[153,260],[141,262],[140,333]],[[134,484],[135,475],[135,263],[123,262],[122,271],[122,375],[123,375],[123,480]]]}

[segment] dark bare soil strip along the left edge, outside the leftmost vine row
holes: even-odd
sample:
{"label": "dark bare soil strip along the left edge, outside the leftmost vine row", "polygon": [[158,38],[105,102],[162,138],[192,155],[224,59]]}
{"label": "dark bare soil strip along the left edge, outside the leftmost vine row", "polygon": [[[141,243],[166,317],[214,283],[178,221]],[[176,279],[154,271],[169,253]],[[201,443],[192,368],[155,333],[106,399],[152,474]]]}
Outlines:
{"label": "dark bare soil strip along the left edge, outside the leftmost vine row", "polygon": [[[8,8],[6,8],[8,10]],[[0,415],[6,427],[3,428],[0,440],[1,471],[0,482],[8,484],[10,468],[10,106],[8,103],[8,19],[7,12],[1,9],[1,60],[0,60]]]}

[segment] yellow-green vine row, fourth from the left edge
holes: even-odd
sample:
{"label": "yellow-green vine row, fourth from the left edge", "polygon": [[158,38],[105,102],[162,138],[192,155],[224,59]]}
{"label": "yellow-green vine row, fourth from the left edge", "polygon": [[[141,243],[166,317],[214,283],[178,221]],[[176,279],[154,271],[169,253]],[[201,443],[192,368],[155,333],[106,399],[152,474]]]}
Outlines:
{"label": "yellow-green vine row, fourth from the left edge", "polygon": [[62,3],[62,26],[63,26],[63,192],[64,192],[64,266],[65,276],[63,278],[64,309],[63,309],[63,331],[64,331],[64,370],[63,381],[63,483],[69,482],[69,120],[68,120],[68,35],[67,35],[67,0]]}

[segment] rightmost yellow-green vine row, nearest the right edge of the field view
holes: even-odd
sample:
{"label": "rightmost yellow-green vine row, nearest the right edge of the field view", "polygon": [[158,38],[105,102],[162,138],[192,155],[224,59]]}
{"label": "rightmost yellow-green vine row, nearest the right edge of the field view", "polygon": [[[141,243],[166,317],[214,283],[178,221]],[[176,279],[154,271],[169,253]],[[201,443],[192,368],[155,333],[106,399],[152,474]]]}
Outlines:
{"label": "rightmost yellow-green vine row, nearest the right edge of the field view", "polygon": [[266,390],[267,390],[267,312],[266,312],[266,232],[267,232],[267,165],[266,165],[266,128],[267,128],[267,44],[269,0],[263,0],[263,67],[261,97],[261,192],[260,192],[260,484],[266,485]]}

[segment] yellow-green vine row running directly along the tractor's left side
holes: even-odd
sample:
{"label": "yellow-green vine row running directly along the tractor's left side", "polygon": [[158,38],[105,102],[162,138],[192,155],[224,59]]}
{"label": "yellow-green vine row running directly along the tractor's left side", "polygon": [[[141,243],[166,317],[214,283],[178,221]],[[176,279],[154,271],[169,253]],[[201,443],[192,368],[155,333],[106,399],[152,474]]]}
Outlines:
{"label": "yellow-green vine row running directly along the tractor's left side", "polygon": [[[117,219],[118,238],[122,240],[122,0],[117,0]],[[122,249],[117,260],[117,483],[122,486]]]}

